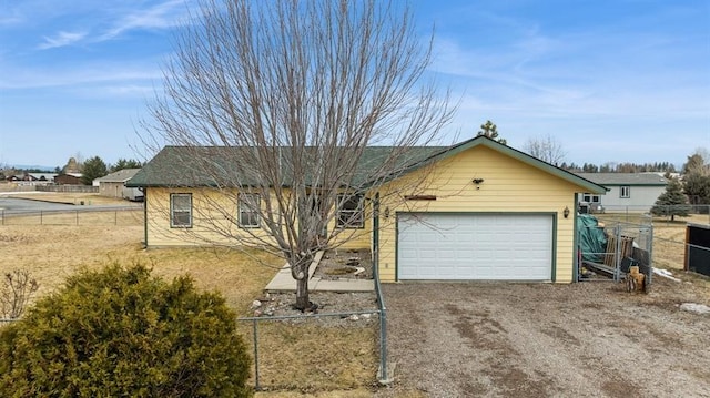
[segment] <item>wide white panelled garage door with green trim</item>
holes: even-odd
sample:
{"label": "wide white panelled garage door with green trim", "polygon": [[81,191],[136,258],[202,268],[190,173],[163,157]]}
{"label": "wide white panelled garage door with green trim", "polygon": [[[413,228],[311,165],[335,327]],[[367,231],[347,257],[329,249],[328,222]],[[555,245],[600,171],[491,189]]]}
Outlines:
{"label": "wide white panelled garage door with green trim", "polygon": [[552,216],[399,214],[398,278],[550,280]]}

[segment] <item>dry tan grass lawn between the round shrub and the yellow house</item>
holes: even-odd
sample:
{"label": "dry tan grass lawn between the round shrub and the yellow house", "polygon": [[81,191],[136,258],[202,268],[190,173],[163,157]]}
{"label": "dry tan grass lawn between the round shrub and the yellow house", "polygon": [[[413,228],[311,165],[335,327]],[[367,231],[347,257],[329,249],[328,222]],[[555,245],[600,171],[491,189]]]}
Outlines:
{"label": "dry tan grass lawn between the round shrub and the yellow house", "polygon": [[[145,251],[142,237],[139,217],[130,225],[4,225],[0,226],[0,272],[29,269],[40,283],[41,297],[82,267],[141,262],[168,279],[190,274],[197,287],[221,292],[240,316],[246,316],[252,300],[263,295],[264,286],[283,265],[257,251],[248,255],[210,248]],[[237,325],[253,349],[252,324]],[[372,394],[367,391],[378,364],[376,322],[352,328],[263,322],[258,329],[261,385],[282,390],[260,396]]]}

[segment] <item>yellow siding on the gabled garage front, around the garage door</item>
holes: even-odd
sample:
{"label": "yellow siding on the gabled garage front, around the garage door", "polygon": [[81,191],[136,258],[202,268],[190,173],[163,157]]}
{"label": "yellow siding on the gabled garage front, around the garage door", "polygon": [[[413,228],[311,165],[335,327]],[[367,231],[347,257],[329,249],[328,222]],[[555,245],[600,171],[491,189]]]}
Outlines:
{"label": "yellow siding on the gabled garage front, around the garage door", "polygon": [[[403,183],[414,184],[428,173],[429,185],[412,194],[436,195],[436,201],[402,201],[388,193],[400,190]],[[483,178],[477,188],[471,182]],[[383,282],[396,279],[396,212],[537,212],[557,213],[556,282],[572,278],[574,216],[562,216],[568,207],[575,211],[575,192],[580,188],[557,176],[531,167],[516,159],[479,145],[445,159],[428,170],[393,182],[383,194],[379,273]],[[403,194],[407,194],[405,188]]]}

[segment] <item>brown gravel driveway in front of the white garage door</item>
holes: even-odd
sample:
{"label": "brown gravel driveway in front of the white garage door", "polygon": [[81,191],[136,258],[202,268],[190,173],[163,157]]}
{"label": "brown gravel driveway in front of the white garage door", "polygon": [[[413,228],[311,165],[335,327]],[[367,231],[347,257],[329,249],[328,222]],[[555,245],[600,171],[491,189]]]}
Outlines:
{"label": "brown gravel driveway in front of the white garage door", "polygon": [[395,381],[379,397],[710,397],[707,289],[385,284]]}

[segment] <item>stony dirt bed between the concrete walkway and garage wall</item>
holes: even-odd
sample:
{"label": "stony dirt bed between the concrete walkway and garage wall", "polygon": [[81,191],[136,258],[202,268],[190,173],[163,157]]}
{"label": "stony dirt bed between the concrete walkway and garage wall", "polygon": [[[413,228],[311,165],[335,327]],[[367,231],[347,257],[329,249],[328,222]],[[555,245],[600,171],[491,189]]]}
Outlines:
{"label": "stony dirt bed between the concrete walkway and garage wall", "polygon": [[372,253],[369,248],[327,251],[313,276],[328,280],[372,279]]}

